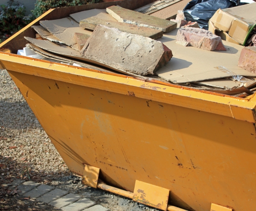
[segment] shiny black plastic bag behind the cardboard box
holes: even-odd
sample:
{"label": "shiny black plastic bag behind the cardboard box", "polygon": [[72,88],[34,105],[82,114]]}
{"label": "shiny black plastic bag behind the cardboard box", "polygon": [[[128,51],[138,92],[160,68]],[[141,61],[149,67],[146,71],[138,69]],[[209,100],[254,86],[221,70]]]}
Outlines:
{"label": "shiny black plastic bag behind the cardboard box", "polygon": [[197,22],[203,29],[208,29],[208,21],[218,9],[239,6],[240,0],[192,0],[184,8],[187,21]]}

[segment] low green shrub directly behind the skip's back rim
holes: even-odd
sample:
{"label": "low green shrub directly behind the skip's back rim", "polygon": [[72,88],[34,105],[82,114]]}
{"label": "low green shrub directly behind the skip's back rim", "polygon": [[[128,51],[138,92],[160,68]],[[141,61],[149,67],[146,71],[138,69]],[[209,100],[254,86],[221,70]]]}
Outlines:
{"label": "low green shrub directly behind the skip's back rim", "polygon": [[37,0],[35,3],[35,9],[31,12],[35,17],[39,17],[51,8],[77,6],[98,2],[99,0]]}

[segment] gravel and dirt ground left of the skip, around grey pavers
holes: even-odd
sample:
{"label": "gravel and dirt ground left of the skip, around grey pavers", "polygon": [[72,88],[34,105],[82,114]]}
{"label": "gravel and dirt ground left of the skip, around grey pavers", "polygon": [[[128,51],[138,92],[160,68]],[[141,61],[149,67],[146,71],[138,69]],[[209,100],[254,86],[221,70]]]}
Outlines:
{"label": "gravel and dirt ground left of the skip, around grey pavers", "polygon": [[81,184],[35,118],[6,70],[0,69],[0,210],[58,211],[8,190],[14,178],[32,180],[81,194],[111,211],[157,211],[100,189]]}

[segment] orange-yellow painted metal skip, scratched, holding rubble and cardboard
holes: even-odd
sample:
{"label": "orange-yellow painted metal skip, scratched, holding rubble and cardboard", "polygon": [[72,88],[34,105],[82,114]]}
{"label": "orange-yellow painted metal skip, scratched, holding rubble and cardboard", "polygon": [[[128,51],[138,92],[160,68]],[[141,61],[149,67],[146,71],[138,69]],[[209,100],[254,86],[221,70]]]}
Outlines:
{"label": "orange-yellow painted metal skip, scratched, holding rubble and cardboard", "polygon": [[[40,18],[61,11],[68,14]],[[0,48],[15,52],[33,33],[28,26]],[[136,180],[163,187],[169,204],[186,210],[214,202],[254,211],[255,94],[241,99],[6,52],[0,66],[74,173],[82,176],[86,164],[126,191]]]}

